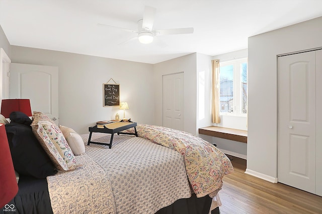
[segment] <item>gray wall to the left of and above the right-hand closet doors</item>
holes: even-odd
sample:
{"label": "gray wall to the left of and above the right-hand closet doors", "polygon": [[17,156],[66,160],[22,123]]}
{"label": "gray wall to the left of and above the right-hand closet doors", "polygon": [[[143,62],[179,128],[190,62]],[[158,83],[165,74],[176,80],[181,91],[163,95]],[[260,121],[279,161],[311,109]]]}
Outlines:
{"label": "gray wall to the left of and above the right-hand closet doors", "polygon": [[322,47],[322,17],[249,38],[247,172],[277,178],[277,55]]}

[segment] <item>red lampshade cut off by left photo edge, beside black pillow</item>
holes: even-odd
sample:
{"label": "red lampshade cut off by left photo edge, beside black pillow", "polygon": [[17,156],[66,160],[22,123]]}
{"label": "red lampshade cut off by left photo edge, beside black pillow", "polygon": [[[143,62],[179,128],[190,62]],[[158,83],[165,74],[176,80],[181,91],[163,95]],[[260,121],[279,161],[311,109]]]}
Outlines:
{"label": "red lampshade cut off by left photo edge, beside black pillow", "polygon": [[18,192],[18,184],[10,153],[6,128],[0,124],[0,207],[12,200]]}

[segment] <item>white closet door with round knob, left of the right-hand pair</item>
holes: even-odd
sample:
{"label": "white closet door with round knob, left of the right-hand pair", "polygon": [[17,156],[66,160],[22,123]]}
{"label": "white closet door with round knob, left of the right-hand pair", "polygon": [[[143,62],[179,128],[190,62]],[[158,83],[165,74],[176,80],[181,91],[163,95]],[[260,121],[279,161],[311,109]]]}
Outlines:
{"label": "white closet door with round knob, left of the right-hand pair", "polygon": [[278,58],[278,92],[278,181],[315,193],[315,52]]}

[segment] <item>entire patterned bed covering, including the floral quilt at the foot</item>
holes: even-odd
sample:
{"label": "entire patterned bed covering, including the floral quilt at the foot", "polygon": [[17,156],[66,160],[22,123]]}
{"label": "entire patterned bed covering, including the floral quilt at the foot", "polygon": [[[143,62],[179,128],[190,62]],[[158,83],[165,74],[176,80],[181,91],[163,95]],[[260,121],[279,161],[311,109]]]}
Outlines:
{"label": "entire patterned bed covering, including the floral quilt at the foot", "polygon": [[[155,213],[190,197],[191,189],[214,197],[233,171],[224,153],[195,135],[144,124],[137,133],[115,135],[111,149],[86,145],[76,156],[81,167],[47,177],[54,213]],[[110,136],[93,133],[92,140],[106,143]],[[85,144],[88,137],[82,135]]]}

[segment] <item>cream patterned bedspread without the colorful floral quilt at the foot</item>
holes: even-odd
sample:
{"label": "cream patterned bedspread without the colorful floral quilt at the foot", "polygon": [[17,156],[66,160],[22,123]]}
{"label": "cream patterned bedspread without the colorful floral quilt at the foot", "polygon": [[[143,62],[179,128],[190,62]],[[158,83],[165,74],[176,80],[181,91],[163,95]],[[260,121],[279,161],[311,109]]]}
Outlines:
{"label": "cream patterned bedspread without the colorful floral quilt at the foot", "polygon": [[[88,134],[82,138],[87,143]],[[141,137],[115,135],[111,149],[86,145],[76,161],[83,166],[47,178],[54,213],[155,213],[191,196],[182,156]]]}

